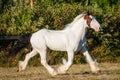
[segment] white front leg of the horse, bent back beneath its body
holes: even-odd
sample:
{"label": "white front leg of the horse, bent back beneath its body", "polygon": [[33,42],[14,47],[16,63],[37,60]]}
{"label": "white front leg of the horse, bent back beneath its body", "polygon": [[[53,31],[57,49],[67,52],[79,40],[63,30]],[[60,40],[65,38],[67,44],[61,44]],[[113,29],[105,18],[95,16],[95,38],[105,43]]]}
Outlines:
{"label": "white front leg of the horse, bent back beneath its body", "polygon": [[65,74],[73,63],[74,52],[68,51],[67,53],[68,53],[68,61],[63,62],[64,64],[58,68],[57,70],[58,74]]}

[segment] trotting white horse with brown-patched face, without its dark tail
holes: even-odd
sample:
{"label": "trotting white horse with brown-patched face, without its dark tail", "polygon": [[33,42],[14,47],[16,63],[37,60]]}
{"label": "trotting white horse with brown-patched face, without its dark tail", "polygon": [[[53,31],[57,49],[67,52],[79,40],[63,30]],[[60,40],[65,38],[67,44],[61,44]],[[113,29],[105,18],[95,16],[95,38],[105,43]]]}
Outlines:
{"label": "trotting white horse with brown-patched face, without its dark tail", "polygon": [[[41,29],[32,34],[30,39],[33,50],[26,54],[24,61],[19,61],[18,71],[24,70],[31,57],[37,53],[41,56],[41,64],[54,76],[57,74],[66,73],[73,63],[74,53],[82,50],[87,62],[90,65],[91,71],[97,73],[100,69],[95,61],[91,58],[86,48],[86,30],[93,28],[95,31],[100,31],[101,26],[89,11],[75,17],[73,22],[68,24],[63,30],[47,30]],[[46,61],[47,48],[57,51],[67,51],[68,61],[63,59],[63,65],[58,69],[52,68]]]}

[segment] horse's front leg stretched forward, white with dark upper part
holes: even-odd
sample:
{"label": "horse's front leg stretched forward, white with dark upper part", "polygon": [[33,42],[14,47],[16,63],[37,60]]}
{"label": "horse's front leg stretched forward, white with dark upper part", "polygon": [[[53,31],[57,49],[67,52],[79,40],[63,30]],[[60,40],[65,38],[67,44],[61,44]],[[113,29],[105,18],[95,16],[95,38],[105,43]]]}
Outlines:
{"label": "horse's front leg stretched forward, white with dark upper part", "polygon": [[90,65],[91,71],[93,73],[98,73],[100,71],[100,68],[98,67],[98,63],[96,61],[93,61],[92,57],[90,56],[88,50],[86,47],[82,48],[83,55],[86,57],[87,62]]}

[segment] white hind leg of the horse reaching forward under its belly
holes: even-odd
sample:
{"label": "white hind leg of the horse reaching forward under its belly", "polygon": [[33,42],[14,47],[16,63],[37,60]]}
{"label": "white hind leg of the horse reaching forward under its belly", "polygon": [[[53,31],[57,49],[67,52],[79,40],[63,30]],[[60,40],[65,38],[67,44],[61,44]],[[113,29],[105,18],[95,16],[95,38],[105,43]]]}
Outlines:
{"label": "white hind leg of the horse reaching forward under its belly", "polygon": [[46,60],[46,50],[37,50],[41,56],[41,64],[48,70],[48,72],[52,75],[55,76],[57,75],[57,72],[48,65],[47,60]]}

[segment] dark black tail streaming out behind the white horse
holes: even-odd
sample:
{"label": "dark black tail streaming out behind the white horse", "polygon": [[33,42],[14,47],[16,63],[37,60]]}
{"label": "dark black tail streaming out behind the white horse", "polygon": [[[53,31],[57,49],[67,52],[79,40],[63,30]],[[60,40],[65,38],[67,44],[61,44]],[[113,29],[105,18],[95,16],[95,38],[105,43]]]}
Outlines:
{"label": "dark black tail streaming out behind the white horse", "polygon": [[32,33],[21,35],[17,41],[17,44],[9,50],[9,54],[7,55],[7,57],[15,56],[21,49],[28,46],[28,44],[30,44],[31,36]]}

